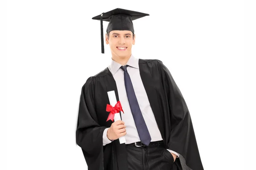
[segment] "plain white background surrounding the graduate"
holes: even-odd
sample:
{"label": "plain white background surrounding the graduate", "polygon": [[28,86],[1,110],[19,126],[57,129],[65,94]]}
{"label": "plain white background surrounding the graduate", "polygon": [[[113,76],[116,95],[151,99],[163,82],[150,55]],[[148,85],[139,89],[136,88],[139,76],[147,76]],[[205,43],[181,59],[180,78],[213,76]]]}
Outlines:
{"label": "plain white background surrounding the graduate", "polygon": [[1,119],[6,140],[0,169],[87,169],[75,139],[81,87],[111,61],[108,45],[101,54],[100,21],[91,18],[114,8],[150,14],[134,21],[133,54],[160,59],[169,68],[189,107],[204,169],[253,169],[255,145],[244,138],[255,135],[248,132],[254,128],[255,90],[248,90],[253,84],[245,80],[255,77],[245,74],[253,63],[244,56],[252,57],[247,50],[255,50],[255,39],[244,38],[255,36],[247,31],[255,28],[255,20],[247,18],[255,8],[244,5],[239,0],[3,1],[1,94],[7,100],[1,115],[7,121]]}

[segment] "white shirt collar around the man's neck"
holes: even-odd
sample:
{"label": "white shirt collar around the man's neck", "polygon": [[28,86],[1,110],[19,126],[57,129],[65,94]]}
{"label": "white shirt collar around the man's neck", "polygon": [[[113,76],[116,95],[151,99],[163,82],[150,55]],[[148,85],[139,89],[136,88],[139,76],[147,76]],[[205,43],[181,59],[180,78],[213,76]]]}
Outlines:
{"label": "white shirt collar around the man's neck", "polygon": [[[129,65],[133,68],[137,68],[139,69],[139,62],[138,60],[131,54],[131,57],[128,59],[126,65]],[[122,66],[122,64],[114,61],[112,58],[111,58],[111,64],[110,64],[110,70],[111,70],[111,73],[114,75],[116,74],[116,71],[118,71],[118,69]]]}

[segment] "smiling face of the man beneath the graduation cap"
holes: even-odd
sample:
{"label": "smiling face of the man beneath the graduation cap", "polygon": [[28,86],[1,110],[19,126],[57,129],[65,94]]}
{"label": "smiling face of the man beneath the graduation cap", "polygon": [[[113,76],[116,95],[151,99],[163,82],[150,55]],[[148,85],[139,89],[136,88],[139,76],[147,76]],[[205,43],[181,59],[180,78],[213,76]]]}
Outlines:
{"label": "smiling face of the man beneath the graduation cap", "polygon": [[130,57],[131,47],[135,44],[135,36],[133,39],[131,31],[113,30],[109,33],[109,39],[106,34],[106,43],[109,44],[112,56]]}

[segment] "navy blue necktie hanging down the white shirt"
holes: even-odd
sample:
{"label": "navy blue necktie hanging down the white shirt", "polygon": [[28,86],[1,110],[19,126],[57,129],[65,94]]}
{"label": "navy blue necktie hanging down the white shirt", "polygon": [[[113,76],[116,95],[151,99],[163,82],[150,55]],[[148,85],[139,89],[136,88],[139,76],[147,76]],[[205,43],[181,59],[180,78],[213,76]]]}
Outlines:
{"label": "navy blue necktie hanging down the white shirt", "polygon": [[135,125],[137,127],[137,131],[140,136],[140,141],[147,145],[151,141],[151,136],[148,132],[148,127],[145,123],[145,120],[143,119],[142,113],[140,111],[139,103],[137,101],[137,98],[135,96],[134,88],[131,83],[131,78],[127,72],[126,67],[129,65],[121,66],[120,68],[124,71],[124,77],[125,77],[125,89],[126,89],[126,94],[128,97],[128,101],[130,104],[131,108],[131,113],[134,118]]}

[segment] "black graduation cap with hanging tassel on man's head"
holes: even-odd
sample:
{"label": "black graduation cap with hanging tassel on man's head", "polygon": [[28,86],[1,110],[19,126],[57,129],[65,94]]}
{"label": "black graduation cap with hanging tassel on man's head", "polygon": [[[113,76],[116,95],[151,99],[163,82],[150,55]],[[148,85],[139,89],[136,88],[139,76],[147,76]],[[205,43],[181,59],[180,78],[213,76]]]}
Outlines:
{"label": "black graduation cap with hanging tassel on man's head", "polygon": [[107,32],[110,32],[113,30],[128,30],[134,33],[134,27],[133,27],[132,21],[148,15],[149,14],[145,14],[142,12],[116,8],[106,13],[102,12],[102,14],[96,17],[93,17],[92,18],[93,20],[100,20],[102,53],[104,53],[103,21],[109,22],[107,27]]}

